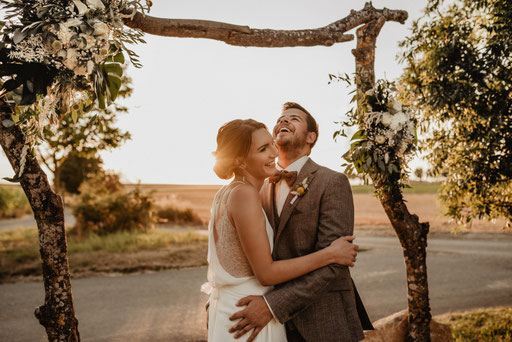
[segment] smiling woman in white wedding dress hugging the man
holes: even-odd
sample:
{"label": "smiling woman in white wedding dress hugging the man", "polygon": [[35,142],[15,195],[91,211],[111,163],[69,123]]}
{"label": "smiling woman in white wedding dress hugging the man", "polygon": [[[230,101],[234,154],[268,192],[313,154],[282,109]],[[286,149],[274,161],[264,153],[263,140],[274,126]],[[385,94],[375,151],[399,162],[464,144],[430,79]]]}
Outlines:
{"label": "smiling woman in white wedding dress hugging the man", "polygon": [[[335,240],[329,247],[306,256],[272,260],[273,230],[261,206],[259,190],[277,172],[278,155],[272,136],[255,120],[233,120],[217,134],[214,171],[222,179],[234,179],[215,195],[209,225],[208,283],[210,294],[208,341],[235,341],[229,316],[237,302],[248,295],[263,295],[279,284],[328,264],[353,266],[354,246]],[[349,247],[350,246],[350,247]],[[248,334],[250,335],[250,334]],[[245,341],[248,335],[236,341]],[[255,341],[286,341],[285,328],[273,319]]]}

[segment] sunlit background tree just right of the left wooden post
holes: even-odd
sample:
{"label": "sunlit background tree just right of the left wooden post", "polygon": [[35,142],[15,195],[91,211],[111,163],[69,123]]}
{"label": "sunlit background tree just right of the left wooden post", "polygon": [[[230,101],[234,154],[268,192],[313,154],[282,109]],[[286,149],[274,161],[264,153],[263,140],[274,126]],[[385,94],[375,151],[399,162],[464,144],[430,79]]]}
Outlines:
{"label": "sunlit background tree just right of the left wooden post", "polygon": [[[118,98],[127,98],[133,93],[131,79],[123,76],[122,82]],[[62,190],[76,193],[88,175],[101,166],[99,152],[115,149],[130,139],[130,133],[115,126],[118,114],[126,112],[128,108],[118,102],[106,109],[95,105],[93,110],[75,119],[72,115],[65,115],[58,125],[45,127],[37,156],[53,173],[53,186],[57,193]],[[92,161],[96,161],[95,165],[91,164]],[[71,165],[74,162],[76,165]],[[92,168],[73,174],[73,170],[86,165]]]}

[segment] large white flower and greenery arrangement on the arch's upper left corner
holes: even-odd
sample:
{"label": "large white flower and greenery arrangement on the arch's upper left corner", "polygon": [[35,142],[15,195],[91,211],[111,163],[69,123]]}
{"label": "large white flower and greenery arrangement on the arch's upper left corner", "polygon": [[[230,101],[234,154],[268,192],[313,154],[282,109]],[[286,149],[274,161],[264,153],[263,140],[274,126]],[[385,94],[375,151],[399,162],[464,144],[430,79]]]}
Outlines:
{"label": "large white flower and greenery arrangement on the arch's upper left corner", "polygon": [[[70,113],[105,109],[117,97],[124,53],[140,67],[128,43],[144,42],[142,32],[123,20],[149,11],[140,0],[0,0],[0,95],[13,109],[9,126],[22,127],[34,145],[48,124]],[[20,161],[20,165],[23,161]],[[21,168],[20,168],[21,169]],[[21,172],[18,176],[21,175]]]}

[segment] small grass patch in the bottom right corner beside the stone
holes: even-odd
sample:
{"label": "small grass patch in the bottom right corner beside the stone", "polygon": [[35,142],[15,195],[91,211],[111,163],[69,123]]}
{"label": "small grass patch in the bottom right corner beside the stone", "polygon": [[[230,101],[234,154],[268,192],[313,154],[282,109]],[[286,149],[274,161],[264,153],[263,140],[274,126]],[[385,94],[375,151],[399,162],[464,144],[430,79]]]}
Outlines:
{"label": "small grass patch in the bottom right corner beside the stone", "polygon": [[448,313],[436,320],[450,325],[455,342],[512,341],[512,307]]}

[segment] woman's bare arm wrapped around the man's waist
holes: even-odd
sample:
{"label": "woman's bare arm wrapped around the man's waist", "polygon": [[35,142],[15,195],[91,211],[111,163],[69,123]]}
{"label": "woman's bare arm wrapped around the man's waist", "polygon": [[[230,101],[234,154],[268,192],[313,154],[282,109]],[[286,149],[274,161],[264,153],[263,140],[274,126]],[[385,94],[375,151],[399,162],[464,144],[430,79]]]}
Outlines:
{"label": "woman's bare arm wrapped around the man's waist", "polygon": [[233,190],[228,215],[236,227],[254,275],[264,286],[295,279],[329,264],[353,266],[357,246],[347,242],[353,237],[340,238],[329,247],[298,258],[272,260],[260,197],[249,185]]}

